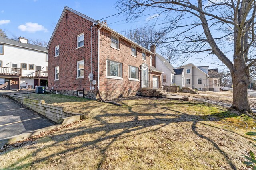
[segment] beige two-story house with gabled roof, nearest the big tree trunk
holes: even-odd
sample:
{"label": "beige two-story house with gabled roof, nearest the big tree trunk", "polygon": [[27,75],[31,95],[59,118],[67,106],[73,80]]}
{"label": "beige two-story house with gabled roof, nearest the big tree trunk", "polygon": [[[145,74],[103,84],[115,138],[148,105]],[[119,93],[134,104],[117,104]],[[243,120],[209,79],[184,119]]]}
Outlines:
{"label": "beige two-story house with gabled roof, nearest the big tree trunk", "polygon": [[197,88],[198,90],[209,90],[209,66],[197,67],[192,63],[181,66],[185,73],[185,87]]}

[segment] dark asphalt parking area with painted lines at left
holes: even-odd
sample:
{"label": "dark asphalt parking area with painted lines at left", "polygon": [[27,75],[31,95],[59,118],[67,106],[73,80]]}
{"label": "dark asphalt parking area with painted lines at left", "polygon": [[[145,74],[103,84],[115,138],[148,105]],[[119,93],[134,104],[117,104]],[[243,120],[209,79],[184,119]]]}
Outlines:
{"label": "dark asphalt parking area with painted lines at left", "polygon": [[49,127],[54,123],[0,96],[0,139]]}

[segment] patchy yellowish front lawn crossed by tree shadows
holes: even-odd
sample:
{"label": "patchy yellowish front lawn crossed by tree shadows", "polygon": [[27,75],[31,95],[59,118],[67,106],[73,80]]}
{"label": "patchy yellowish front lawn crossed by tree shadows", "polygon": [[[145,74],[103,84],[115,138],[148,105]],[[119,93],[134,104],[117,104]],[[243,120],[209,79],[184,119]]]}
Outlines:
{"label": "patchy yellowish front lawn crossed by tree shadows", "polygon": [[[200,102],[142,98],[122,107],[33,94],[87,119],[0,154],[3,169],[246,169],[255,120]],[[48,102],[50,103],[50,102]]]}

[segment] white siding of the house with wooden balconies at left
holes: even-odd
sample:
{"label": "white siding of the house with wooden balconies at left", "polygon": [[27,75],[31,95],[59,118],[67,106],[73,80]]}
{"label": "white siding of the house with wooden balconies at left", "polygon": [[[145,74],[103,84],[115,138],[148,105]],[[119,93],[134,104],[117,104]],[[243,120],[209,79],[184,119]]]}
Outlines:
{"label": "white siding of the house with wooden balconies at left", "polygon": [[[15,63],[20,68],[21,63],[27,64],[27,69],[22,70],[22,76],[35,72],[36,66],[41,66],[42,71],[46,71],[46,66],[48,66],[45,52],[6,44],[4,45],[4,55],[0,55],[0,60],[3,61],[3,67],[12,67],[12,64]],[[34,70],[29,70],[28,64],[34,64]]]}

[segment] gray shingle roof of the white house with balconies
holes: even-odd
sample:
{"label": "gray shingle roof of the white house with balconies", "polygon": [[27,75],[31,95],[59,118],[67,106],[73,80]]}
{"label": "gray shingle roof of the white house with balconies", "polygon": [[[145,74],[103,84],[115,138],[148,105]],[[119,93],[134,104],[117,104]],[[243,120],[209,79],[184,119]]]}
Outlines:
{"label": "gray shingle roof of the white house with balconies", "polygon": [[0,37],[0,43],[14,45],[14,46],[18,46],[18,47],[24,47],[27,49],[33,49],[33,50],[37,50],[37,51],[43,51],[46,53],[48,52],[48,50],[46,50],[46,47],[41,47],[41,46],[34,45],[34,44],[20,43],[19,41],[5,38],[5,37]]}

